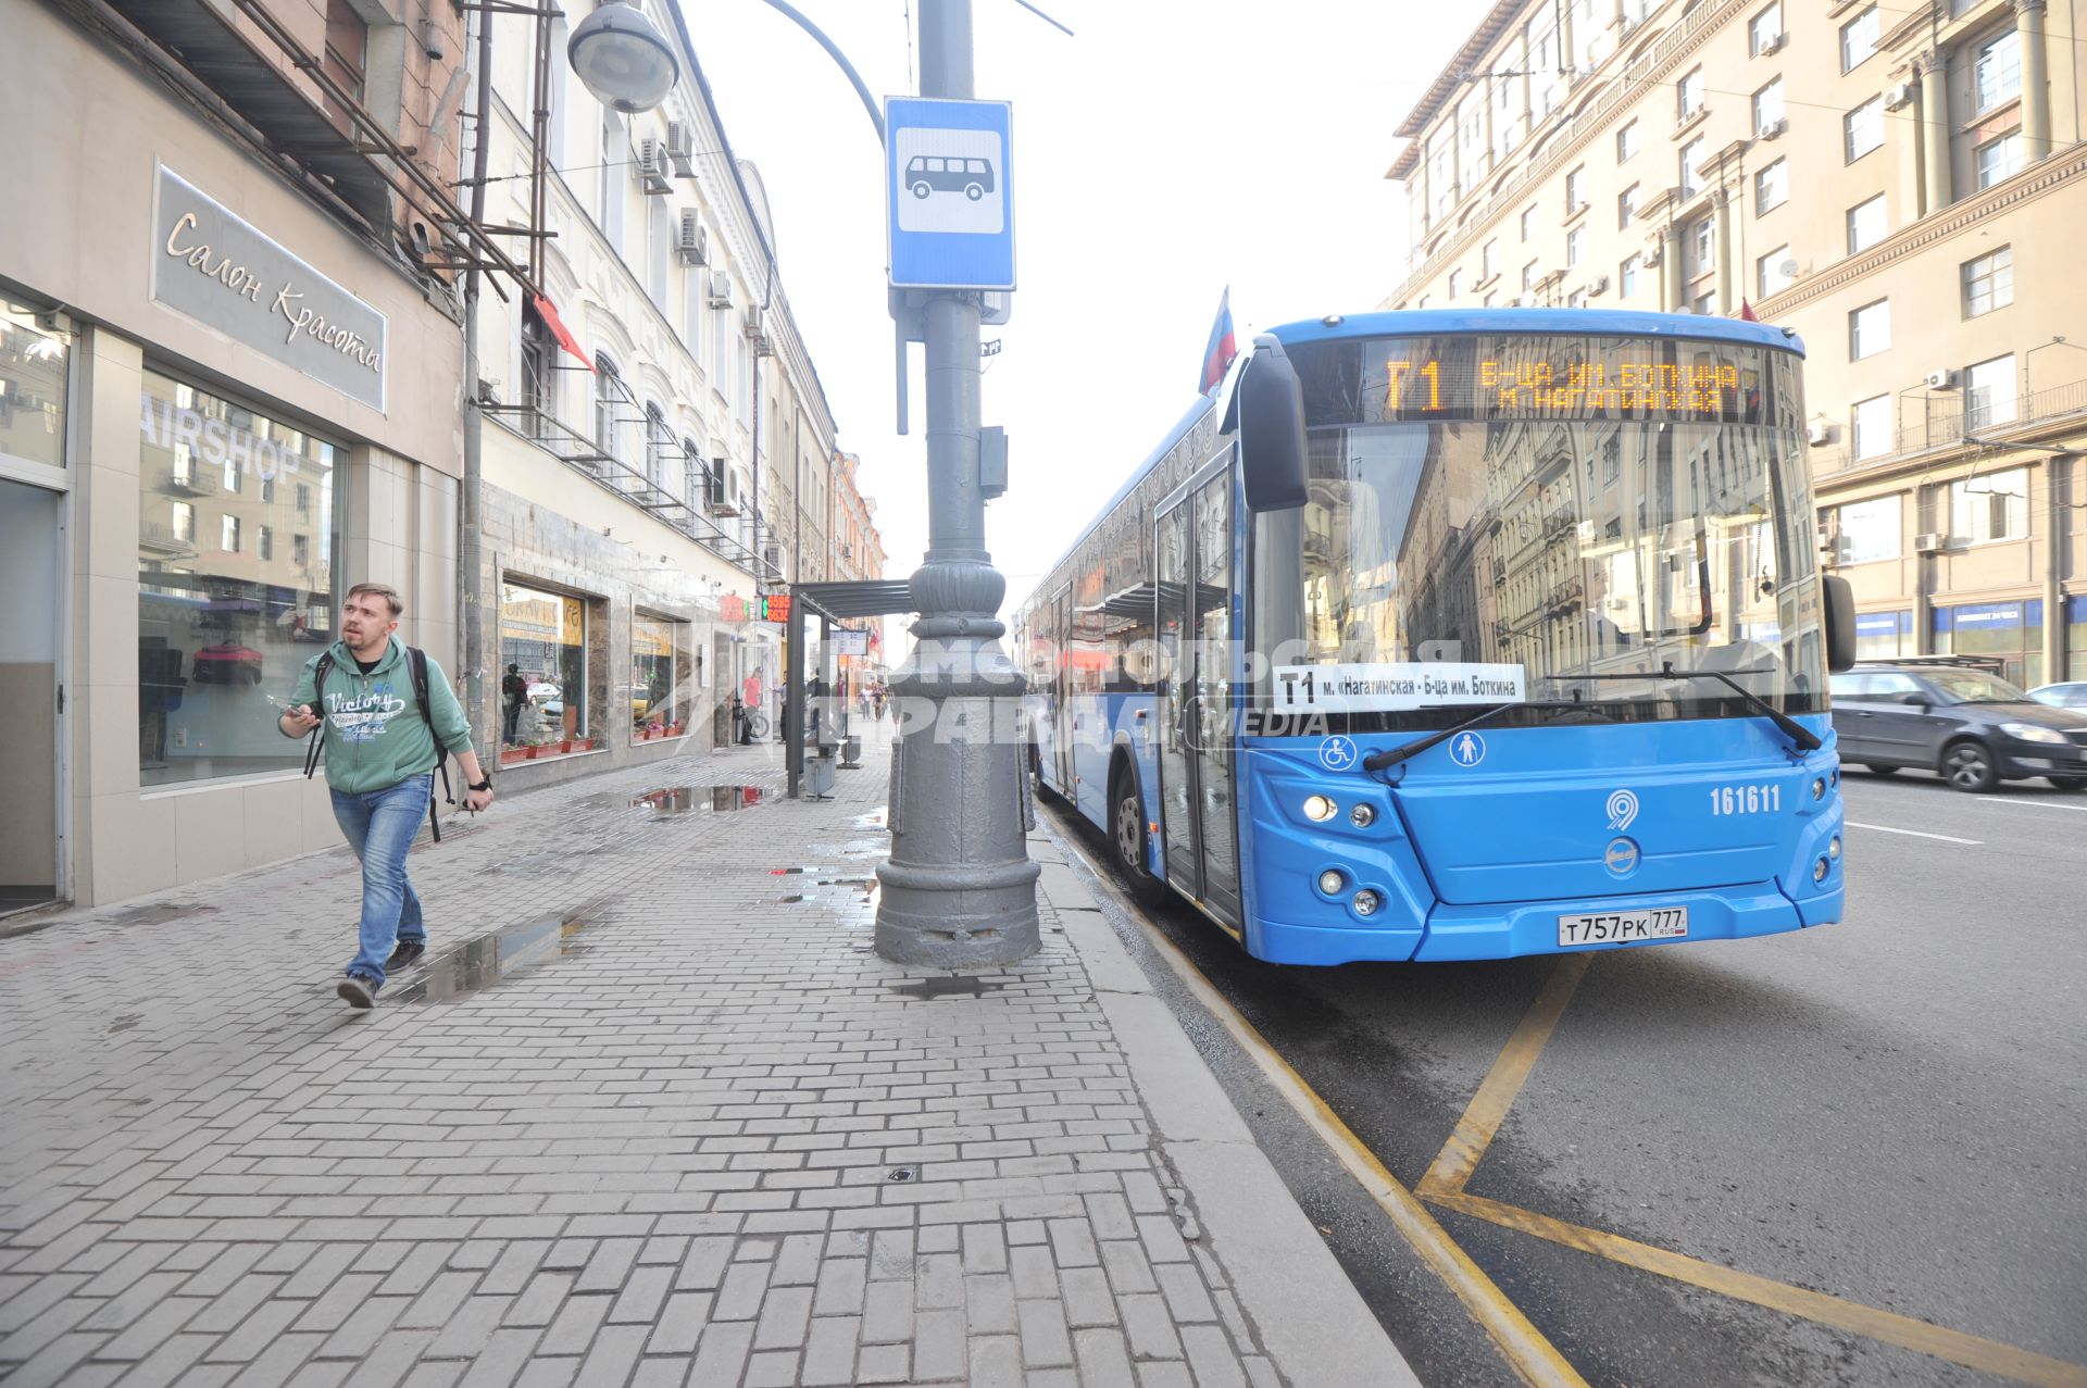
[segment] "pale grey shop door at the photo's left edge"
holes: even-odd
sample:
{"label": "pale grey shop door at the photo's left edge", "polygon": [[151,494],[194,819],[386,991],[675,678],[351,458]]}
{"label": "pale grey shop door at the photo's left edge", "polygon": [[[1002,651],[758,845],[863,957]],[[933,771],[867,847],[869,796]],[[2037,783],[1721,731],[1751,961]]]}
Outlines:
{"label": "pale grey shop door at the photo's left edge", "polygon": [[58,555],[65,499],[0,480],[0,914],[58,895]]}

